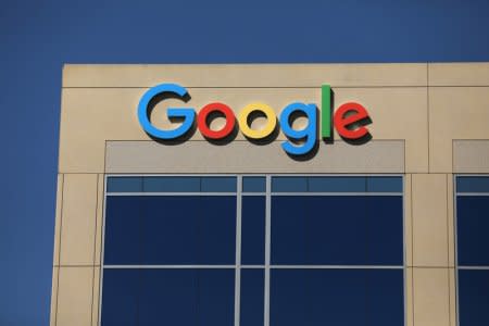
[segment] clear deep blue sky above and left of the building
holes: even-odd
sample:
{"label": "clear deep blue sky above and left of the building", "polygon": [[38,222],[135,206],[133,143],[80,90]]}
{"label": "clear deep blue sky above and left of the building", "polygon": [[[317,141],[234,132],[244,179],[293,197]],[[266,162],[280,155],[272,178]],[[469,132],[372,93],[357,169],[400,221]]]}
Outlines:
{"label": "clear deep blue sky above and left of the building", "polygon": [[48,325],[64,63],[489,61],[489,1],[2,1],[0,325]]}

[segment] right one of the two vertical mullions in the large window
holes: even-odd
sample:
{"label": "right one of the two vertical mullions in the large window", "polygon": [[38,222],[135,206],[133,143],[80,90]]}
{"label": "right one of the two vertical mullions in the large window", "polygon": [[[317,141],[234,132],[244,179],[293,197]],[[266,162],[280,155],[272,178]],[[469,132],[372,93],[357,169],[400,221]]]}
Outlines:
{"label": "right one of the two vertical mullions in the large window", "polygon": [[266,176],[265,201],[265,284],[264,284],[264,326],[269,326],[269,263],[272,236],[272,177]]}

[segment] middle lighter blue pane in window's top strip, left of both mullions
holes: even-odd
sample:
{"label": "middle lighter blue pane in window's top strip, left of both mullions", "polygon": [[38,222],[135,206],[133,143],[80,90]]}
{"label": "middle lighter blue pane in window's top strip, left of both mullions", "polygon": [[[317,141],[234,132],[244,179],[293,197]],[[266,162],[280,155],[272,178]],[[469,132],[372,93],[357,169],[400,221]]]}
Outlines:
{"label": "middle lighter blue pane in window's top strip, left of both mullions", "polygon": [[145,192],[199,192],[199,177],[145,177]]}

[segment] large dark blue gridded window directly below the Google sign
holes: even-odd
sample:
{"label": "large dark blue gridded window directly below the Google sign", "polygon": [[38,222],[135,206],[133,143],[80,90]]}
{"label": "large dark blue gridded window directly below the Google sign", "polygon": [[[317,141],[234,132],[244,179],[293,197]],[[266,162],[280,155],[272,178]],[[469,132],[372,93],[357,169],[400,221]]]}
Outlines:
{"label": "large dark blue gridded window directly below the Google sign", "polygon": [[400,176],[109,176],[102,325],[404,325]]}

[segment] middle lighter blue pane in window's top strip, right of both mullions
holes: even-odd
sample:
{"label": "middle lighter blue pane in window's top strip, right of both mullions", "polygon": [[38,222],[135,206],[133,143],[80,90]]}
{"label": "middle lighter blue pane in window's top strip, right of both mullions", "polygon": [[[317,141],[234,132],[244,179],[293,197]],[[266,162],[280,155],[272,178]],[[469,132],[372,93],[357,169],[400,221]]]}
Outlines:
{"label": "middle lighter blue pane in window's top strip, right of both mullions", "polygon": [[365,177],[309,177],[311,192],[365,192]]}

